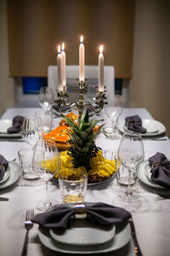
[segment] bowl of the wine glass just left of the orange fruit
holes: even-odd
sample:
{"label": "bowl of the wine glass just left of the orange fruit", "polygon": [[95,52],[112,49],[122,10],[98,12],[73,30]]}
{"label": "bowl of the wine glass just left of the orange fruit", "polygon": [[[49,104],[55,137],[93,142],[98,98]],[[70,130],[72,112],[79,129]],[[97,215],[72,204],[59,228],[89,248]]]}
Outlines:
{"label": "bowl of the wine glass just left of the orange fruit", "polygon": [[44,135],[42,120],[37,113],[24,118],[21,137],[33,148]]}

